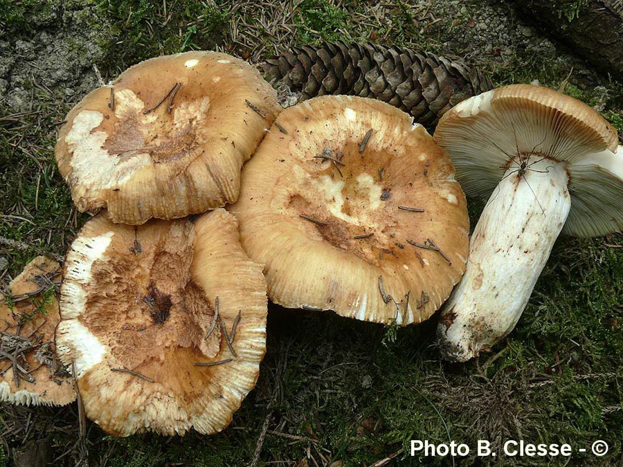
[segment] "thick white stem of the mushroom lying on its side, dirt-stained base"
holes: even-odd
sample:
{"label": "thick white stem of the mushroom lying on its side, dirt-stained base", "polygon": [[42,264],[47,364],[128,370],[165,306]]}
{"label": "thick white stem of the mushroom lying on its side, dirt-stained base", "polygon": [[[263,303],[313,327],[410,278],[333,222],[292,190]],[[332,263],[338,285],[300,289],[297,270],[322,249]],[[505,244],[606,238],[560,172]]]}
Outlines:
{"label": "thick white stem of the mushroom lying on its side, dirt-stained base", "polygon": [[437,338],[446,360],[469,360],[512,331],[569,214],[565,163],[518,169],[509,167],[491,194],[467,271],[444,305]]}

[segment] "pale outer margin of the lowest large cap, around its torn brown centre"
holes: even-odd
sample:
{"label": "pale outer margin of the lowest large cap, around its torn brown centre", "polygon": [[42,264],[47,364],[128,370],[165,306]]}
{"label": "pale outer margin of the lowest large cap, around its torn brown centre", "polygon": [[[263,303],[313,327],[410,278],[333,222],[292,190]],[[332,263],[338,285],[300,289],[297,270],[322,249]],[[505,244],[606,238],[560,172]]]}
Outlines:
{"label": "pale outer margin of the lowest large cap, around its torn brown centre", "polygon": [[[190,221],[170,223],[188,225]],[[162,224],[169,223],[150,221],[142,228],[145,231]],[[68,365],[75,362],[87,416],[111,434],[127,436],[145,431],[183,434],[190,428],[204,434],[218,432],[231,422],[233,412],[257,381],[266,348],[267,298],[262,268],[242,250],[237,222],[231,214],[224,210],[209,212],[199,217],[192,228],[195,252],[190,264],[192,281],[204,291],[210,303],[220,296],[219,317],[226,329],[232,328],[237,313],[242,311],[232,344],[237,358],[224,365],[197,367],[193,365],[196,360],[206,360],[199,351],[192,346],[171,345],[162,349],[160,362],[145,360],[139,370],[145,376],[153,376],[154,383],[111,372],[111,368],[123,366],[120,365],[123,358],[111,354],[117,337],[102,340],[80,322],[89,313],[84,306],[89,298],[81,296],[80,289],[91,280],[91,273],[97,272],[98,262],[111,261],[106,253],[109,245],[115,247],[114,232],[131,228],[96,217],[85,224],[66,257],[66,282],[61,291],[62,322],[57,330],[59,352]],[[140,229],[139,239],[144,238]],[[142,243],[145,253],[147,242]],[[112,318],[121,320],[124,316],[118,313]],[[232,358],[222,337],[217,352],[208,361]],[[136,349],[127,348],[127,351],[132,354],[145,346],[157,345],[157,342],[145,342],[145,346],[139,343]],[[177,389],[172,387],[176,384]]]}

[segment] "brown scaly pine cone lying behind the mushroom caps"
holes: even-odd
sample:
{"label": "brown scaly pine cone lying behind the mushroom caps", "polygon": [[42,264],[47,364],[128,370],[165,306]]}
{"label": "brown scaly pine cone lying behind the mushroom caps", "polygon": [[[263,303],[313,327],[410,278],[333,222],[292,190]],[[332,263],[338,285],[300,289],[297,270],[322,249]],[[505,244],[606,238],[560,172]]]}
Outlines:
{"label": "brown scaly pine cone lying behind the mushroom caps", "polygon": [[489,91],[491,82],[462,62],[431,53],[368,44],[296,47],[263,64],[301,99],[324,94],[376,98],[433,127],[458,102]]}

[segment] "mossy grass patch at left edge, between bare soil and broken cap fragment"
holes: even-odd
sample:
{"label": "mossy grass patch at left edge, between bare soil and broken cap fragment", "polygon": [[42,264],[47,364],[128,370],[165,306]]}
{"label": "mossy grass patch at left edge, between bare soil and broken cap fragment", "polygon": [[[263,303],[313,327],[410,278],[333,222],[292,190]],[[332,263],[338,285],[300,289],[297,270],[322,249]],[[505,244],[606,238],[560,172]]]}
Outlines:
{"label": "mossy grass patch at left edge, between bare soil and broken cap fragment", "polygon": [[87,219],[73,209],[54,161],[53,129],[64,108],[39,102],[44,103],[25,115],[0,116],[0,173],[7,187],[1,194],[0,246],[14,275],[44,251],[64,255]]}

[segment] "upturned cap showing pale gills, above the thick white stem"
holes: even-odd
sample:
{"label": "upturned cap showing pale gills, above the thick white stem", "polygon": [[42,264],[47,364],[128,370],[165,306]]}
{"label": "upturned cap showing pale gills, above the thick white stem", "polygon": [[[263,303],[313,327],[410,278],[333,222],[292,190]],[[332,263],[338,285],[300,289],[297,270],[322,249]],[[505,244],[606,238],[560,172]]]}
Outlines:
{"label": "upturned cap showing pale gills, above the thick white stem", "polygon": [[595,237],[623,230],[623,152],[595,109],[553,89],[503,86],[447,112],[434,139],[452,156],[469,196],[488,198],[510,167],[564,161],[571,210],[563,233]]}

